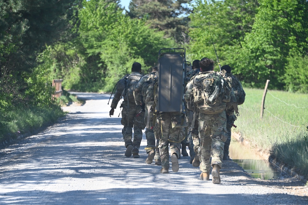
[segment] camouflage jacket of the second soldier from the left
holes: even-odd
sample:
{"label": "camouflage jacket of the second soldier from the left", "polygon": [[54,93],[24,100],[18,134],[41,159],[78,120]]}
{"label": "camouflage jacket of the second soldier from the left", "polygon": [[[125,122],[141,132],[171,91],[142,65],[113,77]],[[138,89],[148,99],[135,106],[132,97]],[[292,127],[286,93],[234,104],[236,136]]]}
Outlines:
{"label": "camouflage jacket of the second soldier from the left", "polygon": [[156,72],[149,73],[142,77],[138,84],[136,85],[134,89],[134,98],[135,103],[137,105],[141,105],[145,103],[145,100],[147,98],[147,90],[150,83],[152,83],[152,79],[154,79],[157,76]]}

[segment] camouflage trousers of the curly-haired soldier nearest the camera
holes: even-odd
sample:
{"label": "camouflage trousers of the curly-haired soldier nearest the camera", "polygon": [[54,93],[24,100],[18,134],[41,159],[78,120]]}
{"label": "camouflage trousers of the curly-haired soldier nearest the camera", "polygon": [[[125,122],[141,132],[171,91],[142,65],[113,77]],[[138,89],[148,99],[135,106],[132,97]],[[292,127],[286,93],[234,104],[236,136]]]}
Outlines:
{"label": "camouflage trousers of the curly-haired soldier nearest the camera", "polygon": [[[210,166],[222,167],[224,142],[227,140],[226,112],[219,114],[199,113],[200,170],[209,173]],[[210,158],[212,162],[210,165]]]}

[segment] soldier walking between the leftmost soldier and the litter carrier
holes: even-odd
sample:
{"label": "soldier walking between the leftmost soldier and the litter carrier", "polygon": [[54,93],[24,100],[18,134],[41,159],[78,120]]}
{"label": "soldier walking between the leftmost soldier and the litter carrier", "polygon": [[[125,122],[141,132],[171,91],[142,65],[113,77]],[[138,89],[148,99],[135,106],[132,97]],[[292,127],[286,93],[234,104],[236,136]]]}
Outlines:
{"label": "soldier walking between the leftmost soldier and the litter carrier", "polygon": [[[142,77],[136,88],[134,89],[134,97],[137,105],[145,106],[145,117],[144,122],[146,124],[145,137],[147,139],[147,147],[145,148],[148,154],[145,163],[152,164],[153,159],[155,160],[156,165],[161,165],[159,149],[156,149],[158,146],[158,134],[154,134],[153,130],[153,104],[154,96],[153,91],[148,91],[149,85],[155,83],[157,77],[157,66],[152,69],[152,73],[149,73]],[[153,88],[153,86],[152,86]],[[150,86],[151,89],[151,86]],[[147,93],[149,94],[147,97]],[[156,142],[155,142],[156,140]],[[156,152],[155,152],[156,149]]]}

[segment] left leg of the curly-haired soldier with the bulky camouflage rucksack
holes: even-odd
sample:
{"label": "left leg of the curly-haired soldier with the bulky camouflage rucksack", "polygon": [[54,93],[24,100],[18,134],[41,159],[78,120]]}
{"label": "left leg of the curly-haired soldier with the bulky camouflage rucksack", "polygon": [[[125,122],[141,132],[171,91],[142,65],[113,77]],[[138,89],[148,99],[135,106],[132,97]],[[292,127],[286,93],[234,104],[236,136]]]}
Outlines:
{"label": "left leg of the curly-haired soldier with the bulky camouflage rucksack", "polygon": [[212,139],[211,135],[211,127],[210,127],[211,119],[205,114],[199,114],[199,137],[200,137],[200,170],[205,173],[209,173],[210,171],[210,158],[211,158],[211,144]]}

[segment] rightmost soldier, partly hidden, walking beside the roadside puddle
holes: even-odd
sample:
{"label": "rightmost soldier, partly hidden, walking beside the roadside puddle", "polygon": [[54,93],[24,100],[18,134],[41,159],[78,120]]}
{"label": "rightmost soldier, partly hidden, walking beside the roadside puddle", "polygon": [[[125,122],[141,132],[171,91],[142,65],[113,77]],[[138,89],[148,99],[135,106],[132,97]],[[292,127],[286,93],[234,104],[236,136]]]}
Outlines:
{"label": "rightmost soldier, partly hidden, walking beside the roadside puddle", "polygon": [[[227,141],[225,141],[225,145],[224,145],[224,157],[223,160],[229,160],[229,146],[230,146],[230,142],[231,142],[231,128],[234,125],[234,121],[237,119],[236,115],[238,115],[237,112],[237,105],[243,104],[245,101],[245,96],[246,93],[243,90],[243,87],[240,83],[240,81],[237,79],[237,77],[235,77],[232,73],[231,73],[231,67],[229,65],[224,65],[221,67],[221,70],[225,70],[225,74],[223,75],[223,77],[226,78],[231,78],[231,88],[232,91],[235,95],[236,98],[236,104],[233,103],[227,103],[227,108],[226,108],[226,114],[227,114],[227,134],[228,134],[228,139]],[[234,114],[234,112],[236,111],[236,115]]]}

